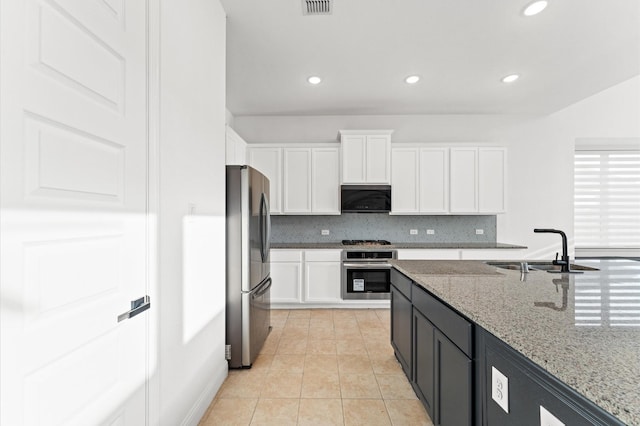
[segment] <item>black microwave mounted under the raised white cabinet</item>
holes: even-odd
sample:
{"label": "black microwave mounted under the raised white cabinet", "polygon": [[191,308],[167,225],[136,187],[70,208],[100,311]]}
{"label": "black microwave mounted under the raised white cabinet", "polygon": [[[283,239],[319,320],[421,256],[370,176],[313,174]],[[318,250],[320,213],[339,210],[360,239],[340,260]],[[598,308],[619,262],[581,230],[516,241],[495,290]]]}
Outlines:
{"label": "black microwave mounted under the raised white cabinet", "polygon": [[390,185],[342,185],[342,213],[389,213]]}

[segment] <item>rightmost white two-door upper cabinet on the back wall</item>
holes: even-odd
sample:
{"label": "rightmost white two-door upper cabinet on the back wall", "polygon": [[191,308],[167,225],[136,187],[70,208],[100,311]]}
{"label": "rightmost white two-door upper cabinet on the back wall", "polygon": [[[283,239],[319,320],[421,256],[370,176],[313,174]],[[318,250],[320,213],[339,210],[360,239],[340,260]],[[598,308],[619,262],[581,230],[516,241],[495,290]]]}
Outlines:
{"label": "rightmost white two-door upper cabinet on the back wall", "polygon": [[506,148],[451,148],[451,213],[504,213]]}

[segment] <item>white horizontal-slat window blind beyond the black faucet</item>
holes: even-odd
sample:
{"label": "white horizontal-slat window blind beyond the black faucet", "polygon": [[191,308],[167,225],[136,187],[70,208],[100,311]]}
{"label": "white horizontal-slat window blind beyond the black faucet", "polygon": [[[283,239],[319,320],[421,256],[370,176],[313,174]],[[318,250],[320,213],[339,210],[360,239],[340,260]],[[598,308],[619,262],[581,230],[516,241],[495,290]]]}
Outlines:
{"label": "white horizontal-slat window blind beyond the black faucet", "polygon": [[640,151],[576,150],[576,248],[640,247]]}

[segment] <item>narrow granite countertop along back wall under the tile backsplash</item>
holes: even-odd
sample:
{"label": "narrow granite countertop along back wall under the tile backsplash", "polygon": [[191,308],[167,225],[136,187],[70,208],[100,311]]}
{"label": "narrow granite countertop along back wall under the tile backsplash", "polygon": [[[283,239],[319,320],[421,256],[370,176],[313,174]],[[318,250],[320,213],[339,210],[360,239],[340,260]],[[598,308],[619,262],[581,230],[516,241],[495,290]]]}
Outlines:
{"label": "narrow granite countertop along back wall under the tile backsplash", "polygon": [[326,243],[271,243],[273,249],[526,249],[525,246],[504,243],[392,243],[391,245],[345,246],[340,241]]}

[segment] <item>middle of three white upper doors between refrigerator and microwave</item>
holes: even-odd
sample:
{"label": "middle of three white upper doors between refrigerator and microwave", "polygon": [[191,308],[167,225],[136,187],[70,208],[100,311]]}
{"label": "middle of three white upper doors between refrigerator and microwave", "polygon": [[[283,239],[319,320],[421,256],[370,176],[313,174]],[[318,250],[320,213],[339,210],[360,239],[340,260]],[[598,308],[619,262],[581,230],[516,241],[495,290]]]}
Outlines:
{"label": "middle of three white upper doors between refrigerator and microwave", "polygon": [[284,148],[283,212],[311,213],[311,149]]}

